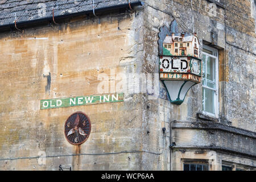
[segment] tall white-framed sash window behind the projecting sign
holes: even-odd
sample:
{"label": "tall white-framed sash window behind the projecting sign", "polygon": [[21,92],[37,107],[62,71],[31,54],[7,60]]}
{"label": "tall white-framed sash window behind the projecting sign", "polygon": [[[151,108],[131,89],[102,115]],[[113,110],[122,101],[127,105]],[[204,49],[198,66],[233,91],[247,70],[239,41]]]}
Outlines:
{"label": "tall white-framed sash window behind the projecting sign", "polygon": [[218,50],[203,45],[203,113],[218,118]]}

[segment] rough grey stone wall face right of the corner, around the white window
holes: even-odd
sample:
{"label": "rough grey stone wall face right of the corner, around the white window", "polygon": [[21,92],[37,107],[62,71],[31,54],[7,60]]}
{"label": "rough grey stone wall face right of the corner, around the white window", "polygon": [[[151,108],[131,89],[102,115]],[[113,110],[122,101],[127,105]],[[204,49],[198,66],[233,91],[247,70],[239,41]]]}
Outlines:
{"label": "rough grey stone wall face right of the corner, around the white window", "polygon": [[[233,131],[233,127],[228,127],[229,129],[222,133],[216,133],[215,127],[207,129],[207,131],[191,130],[192,126],[180,130],[174,127],[176,123],[174,122],[171,141],[175,142],[176,146],[172,151],[171,169],[183,169],[178,167],[175,162],[175,160],[179,161],[180,165],[181,159],[185,157],[181,151],[191,150],[193,155],[190,158],[196,160],[200,159],[195,155],[197,150],[204,151],[205,158],[209,159],[210,150],[217,151],[221,148],[220,152],[216,153],[217,158],[224,158],[228,154],[232,155],[235,161],[238,158],[238,154],[234,152],[237,147],[240,148],[239,151],[242,155],[239,159],[240,163],[255,168],[255,73],[253,71],[255,68],[255,26],[254,18],[251,16],[250,1],[245,3],[225,1],[222,2],[225,6],[215,5],[216,11],[212,10],[214,8],[212,2],[201,1],[200,8],[199,2],[193,1],[193,10],[194,28],[200,40],[200,48],[204,42],[219,49],[219,118],[217,121],[204,122],[220,122],[223,126],[231,125],[249,130],[251,133],[249,132],[249,138],[243,137],[238,130]],[[147,72],[158,72],[156,40],[158,40],[159,27],[164,25],[170,27],[170,23],[175,17],[178,26],[180,26],[180,32],[191,31],[191,1],[146,1],[145,6],[144,14],[146,16],[143,19],[144,39],[146,40],[144,51],[146,54],[143,63]],[[243,13],[238,13],[238,9]],[[236,11],[236,16],[232,16],[234,11]],[[164,86],[160,83],[160,87],[163,88]],[[203,121],[197,117],[197,113],[201,112],[203,107],[201,84],[193,86],[189,90],[180,106],[172,105],[161,98],[159,100],[157,101],[159,102],[159,111],[150,110],[150,115],[158,117],[163,111],[167,113],[165,118],[159,118],[159,121],[162,122],[161,127],[167,129],[166,137],[170,136],[170,122],[174,120],[184,123]],[[168,106],[163,108],[163,102],[167,102]],[[202,125],[208,124],[203,123]],[[152,124],[151,126],[154,127]],[[158,142],[163,135],[162,133],[155,142]],[[147,142],[154,143],[154,140]],[[168,151],[169,144],[170,140],[166,140],[163,146],[159,142],[159,148],[163,147]],[[183,149],[180,150],[179,148]],[[247,154],[250,157],[246,157]],[[243,160],[243,158],[245,159]],[[160,160],[163,163],[170,163],[170,158],[160,158]],[[217,168],[212,169],[221,169],[221,161],[218,162]],[[145,166],[151,166],[151,161],[148,161]],[[170,169],[170,167],[165,169]]]}

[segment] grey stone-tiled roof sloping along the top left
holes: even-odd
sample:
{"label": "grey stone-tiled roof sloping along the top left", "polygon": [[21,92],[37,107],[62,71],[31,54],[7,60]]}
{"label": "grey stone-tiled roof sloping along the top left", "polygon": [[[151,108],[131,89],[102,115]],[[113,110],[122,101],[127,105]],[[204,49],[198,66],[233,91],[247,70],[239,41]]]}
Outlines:
{"label": "grey stone-tiled roof sloping along the top left", "polygon": [[[141,3],[130,0],[131,5]],[[127,0],[94,0],[97,10],[127,5]],[[0,27],[20,22],[30,22],[54,16],[78,14],[93,10],[93,0],[0,0]]]}

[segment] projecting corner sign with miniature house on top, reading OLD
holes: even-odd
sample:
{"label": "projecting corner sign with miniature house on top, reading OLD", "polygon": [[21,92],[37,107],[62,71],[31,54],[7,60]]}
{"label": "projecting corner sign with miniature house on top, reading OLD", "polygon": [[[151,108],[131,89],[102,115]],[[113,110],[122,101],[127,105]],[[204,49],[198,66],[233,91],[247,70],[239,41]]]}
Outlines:
{"label": "projecting corner sign with miniature house on top, reading OLD", "polygon": [[165,26],[160,28],[159,73],[171,103],[180,105],[188,90],[201,82],[201,60],[198,58],[199,40],[196,34],[177,34],[169,32]]}

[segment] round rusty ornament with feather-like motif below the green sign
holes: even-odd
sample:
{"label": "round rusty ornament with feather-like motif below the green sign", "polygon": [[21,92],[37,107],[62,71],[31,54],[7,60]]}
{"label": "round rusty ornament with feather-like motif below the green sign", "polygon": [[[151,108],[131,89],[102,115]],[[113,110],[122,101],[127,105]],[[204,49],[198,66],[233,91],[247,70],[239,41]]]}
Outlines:
{"label": "round rusty ornament with feather-like motif below the green sign", "polygon": [[71,114],[65,122],[64,133],[69,143],[84,143],[90,135],[90,119],[80,111]]}

